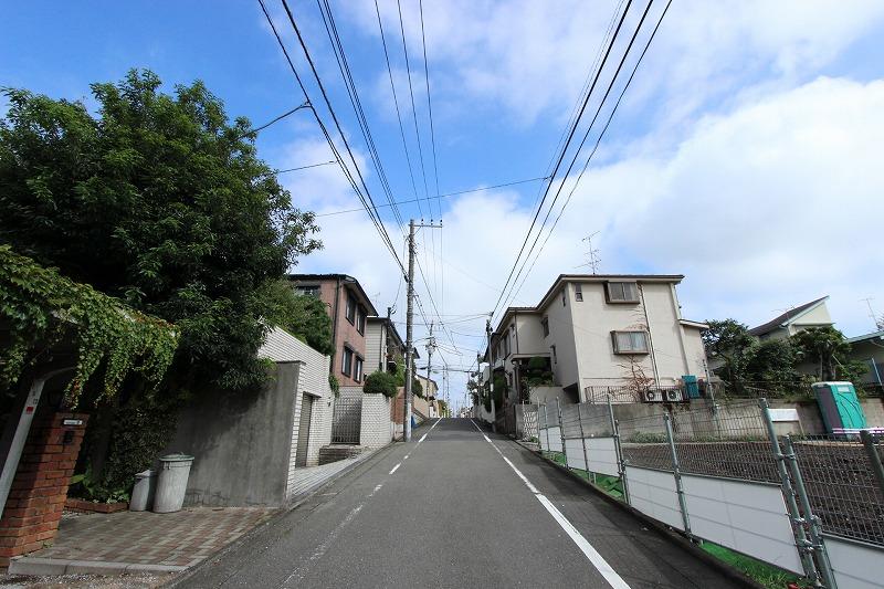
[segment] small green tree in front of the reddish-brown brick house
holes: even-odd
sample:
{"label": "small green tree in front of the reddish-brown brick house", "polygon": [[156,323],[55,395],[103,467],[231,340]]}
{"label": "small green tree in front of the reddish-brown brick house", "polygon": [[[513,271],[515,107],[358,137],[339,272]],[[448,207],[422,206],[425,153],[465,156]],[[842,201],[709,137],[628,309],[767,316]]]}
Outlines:
{"label": "small green tree in front of the reddish-brown brick house", "polygon": [[326,356],[335,353],[332,317],[320,298],[297,294],[286,280],[269,281],[260,296],[265,299],[264,318],[269,323],[278,325]]}

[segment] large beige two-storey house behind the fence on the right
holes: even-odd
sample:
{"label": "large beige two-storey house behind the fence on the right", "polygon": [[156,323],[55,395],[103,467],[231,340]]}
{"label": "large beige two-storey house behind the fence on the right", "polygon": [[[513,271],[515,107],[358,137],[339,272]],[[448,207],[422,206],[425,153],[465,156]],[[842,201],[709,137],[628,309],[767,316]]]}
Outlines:
{"label": "large beige two-storey house behind the fence on the right", "polygon": [[[704,380],[706,325],[682,317],[675,287],[683,277],[564,274],[536,307],[508,308],[491,350],[495,376],[506,379],[506,404],[535,400],[526,398],[524,377],[544,361],[562,402],[593,400],[608,387]],[[537,388],[548,399],[548,388]]]}

